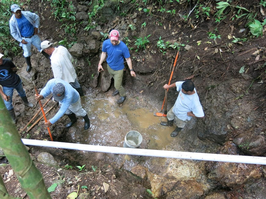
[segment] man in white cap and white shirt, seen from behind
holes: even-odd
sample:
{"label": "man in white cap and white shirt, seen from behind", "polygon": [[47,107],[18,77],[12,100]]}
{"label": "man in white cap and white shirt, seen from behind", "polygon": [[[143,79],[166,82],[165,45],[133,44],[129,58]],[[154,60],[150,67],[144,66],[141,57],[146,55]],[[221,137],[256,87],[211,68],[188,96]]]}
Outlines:
{"label": "man in white cap and white shirt, seen from behind", "polygon": [[51,55],[51,67],[54,78],[66,81],[78,91],[81,98],[84,97],[82,87],[77,80],[75,68],[72,65],[72,56],[67,48],[64,46],[54,48],[53,43],[45,40],[41,43],[41,49],[48,55]]}

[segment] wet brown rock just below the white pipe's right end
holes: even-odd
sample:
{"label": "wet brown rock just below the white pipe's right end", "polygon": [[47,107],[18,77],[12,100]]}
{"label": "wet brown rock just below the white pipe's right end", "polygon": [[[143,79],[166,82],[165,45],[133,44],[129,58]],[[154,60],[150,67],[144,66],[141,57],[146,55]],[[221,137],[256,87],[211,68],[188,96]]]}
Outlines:
{"label": "wet brown rock just below the white pipe's right end", "polygon": [[208,178],[218,181],[223,187],[235,187],[242,185],[248,179],[261,178],[262,171],[256,165],[231,163],[231,162],[210,162],[215,164],[214,169],[208,174]]}

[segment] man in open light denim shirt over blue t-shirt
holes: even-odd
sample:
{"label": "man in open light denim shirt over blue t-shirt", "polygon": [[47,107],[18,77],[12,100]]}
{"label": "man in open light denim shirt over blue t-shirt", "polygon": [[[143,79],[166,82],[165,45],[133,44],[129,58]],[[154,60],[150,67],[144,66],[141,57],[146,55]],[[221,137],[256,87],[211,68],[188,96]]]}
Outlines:
{"label": "man in open light denim shirt over blue t-shirt", "polygon": [[[9,20],[10,33],[20,42],[24,53],[23,56],[27,63],[27,72],[31,71],[31,44],[33,44],[39,52],[41,52],[41,40],[38,36],[38,27],[40,25],[40,18],[35,13],[29,11],[21,11],[16,4],[10,7],[13,15]],[[45,52],[42,54],[49,59],[50,56]]]}

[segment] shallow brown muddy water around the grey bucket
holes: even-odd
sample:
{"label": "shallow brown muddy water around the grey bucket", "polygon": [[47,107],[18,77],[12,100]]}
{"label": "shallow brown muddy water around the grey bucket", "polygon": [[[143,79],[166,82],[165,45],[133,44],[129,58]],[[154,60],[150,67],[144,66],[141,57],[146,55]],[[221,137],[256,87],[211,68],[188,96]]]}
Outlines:
{"label": "shallow brown muddy water around the grey bucket", "polygon": [[[83,130],[84,120],[78,119],[69,131],[73,141],[81,144],[123,147],[126,133],[135,130],[143,137],[139,148],[195,152],[206,152],[208,149],[209,146],[206,146],[206,143],[202,144],[198,138],[196,138],[197,144],[200,144],[194,146],[193,140],[188,140],[185,128],[177,137],[170,137],[170,133],[176,126],[162,126],[160,122],[166,121],[166,118],[153,115],[153,112],[157,112],[155,107],[160,105],[155,105],[142,97],[130,98],[128,95],[126,101],[120,106],[116,103],[117,99],[118,96],[111,96],[111,91],[98,94],[97,97],[87,95],[82,99],[82,106],[89,115],[91,127],[89,130]],[[86,156],[86,152],[83,153]],[[119,167],[123,165],[128,170],[142,162],[149,169],[162,172],[169,164],[169,158],[108,153],[104,158],[115,162]],[[162,166],[165,169],[162,169]]]}

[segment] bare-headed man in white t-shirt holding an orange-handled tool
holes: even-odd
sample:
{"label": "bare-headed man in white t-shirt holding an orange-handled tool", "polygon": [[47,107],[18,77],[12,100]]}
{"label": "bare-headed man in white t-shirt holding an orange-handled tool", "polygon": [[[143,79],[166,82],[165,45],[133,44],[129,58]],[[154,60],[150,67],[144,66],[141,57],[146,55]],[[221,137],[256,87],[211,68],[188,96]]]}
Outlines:
{"label": "bare-headed man in white t-shirt holding an orange-handled tool", "polygon": [[173,87],[177,87],[177,91],[180,92],[174,106],[167,112],[167,122],[161,122],[161,125],[173,126],[173,121],[176,119],[177,127],[171,133],[171,137],[176,137],[191,117],[203,118],[204,112],[195,86],[191,80],[180,81],[171,85],[165,84],[163,86],[164,89]]}

